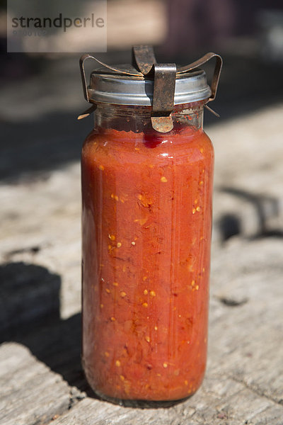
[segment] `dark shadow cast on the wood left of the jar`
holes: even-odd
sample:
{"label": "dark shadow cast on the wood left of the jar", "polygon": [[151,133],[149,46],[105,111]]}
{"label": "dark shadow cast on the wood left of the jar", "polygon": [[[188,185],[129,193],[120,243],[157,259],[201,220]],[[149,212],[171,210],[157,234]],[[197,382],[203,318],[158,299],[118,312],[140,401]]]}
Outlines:
{"label": "dark shadow cast on the wood left of the jar", "polygon": [[16,262],[0,266],[0,281],[0,341],[24,344],[69,385],[94,397],[81,368],[81,314],[60,319],[60,276]]}

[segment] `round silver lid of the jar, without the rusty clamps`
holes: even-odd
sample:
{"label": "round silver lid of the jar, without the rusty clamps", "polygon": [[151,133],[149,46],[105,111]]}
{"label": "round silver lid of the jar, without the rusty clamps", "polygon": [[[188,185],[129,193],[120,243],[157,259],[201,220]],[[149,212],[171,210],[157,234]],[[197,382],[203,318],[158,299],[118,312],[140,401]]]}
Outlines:
{"label": "round silver lid of the jar, without the rusty clamps", "polygon": [[[134,74],[137,70],[131,65],[125,67]],[[153,75],[126,75],[100,67],[92,72],[88,86],[89,101],[115,103],[117,105],[152,106],[154,98]],[[212,90],[207,84],[207,76],[202,69],[177,74],[175,81],[174,104],[191,103],[208,99]]]}

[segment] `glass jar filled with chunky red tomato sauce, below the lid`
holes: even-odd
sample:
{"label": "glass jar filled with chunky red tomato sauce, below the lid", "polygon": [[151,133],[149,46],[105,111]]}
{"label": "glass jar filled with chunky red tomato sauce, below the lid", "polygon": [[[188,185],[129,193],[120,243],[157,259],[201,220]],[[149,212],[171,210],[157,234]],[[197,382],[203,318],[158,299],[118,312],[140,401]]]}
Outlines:
{"label": "glass jar filled with chunky red tomato sauce, below the lid", "polygon": [[83,368],[108,399],[183,399],[207,356],[214,154],[202,106],[179,108],[164,134],[148,112],[99,109],[81,157]]}

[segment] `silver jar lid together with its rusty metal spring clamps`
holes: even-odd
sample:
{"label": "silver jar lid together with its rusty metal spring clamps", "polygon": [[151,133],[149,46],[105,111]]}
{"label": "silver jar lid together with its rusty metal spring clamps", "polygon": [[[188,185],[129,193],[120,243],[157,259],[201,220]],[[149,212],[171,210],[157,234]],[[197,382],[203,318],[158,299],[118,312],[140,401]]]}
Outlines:
{"label": "silver jar lid together with its rusty metal spring clamps", "polygon": [[[152,46],[134,46],[132,65],[104,64],[91,55],[80,60],[83,93],[88,102],[115,103],[117,105],[151,106],[151,124],[158,132],[173,129],[171,113],[174,105],[197,101],[213,101],[219,82],[222,60],[215,53],[207,53],[199,60],[177,67],[175,64],[158,64]],[[205,72],[199,67],[213,57],[216,58],[211,87]],[[96,60],[103,67],[91,74],[91,84],[86,84],[84,62]],[[96,106],[80,115],[83,118]]]}

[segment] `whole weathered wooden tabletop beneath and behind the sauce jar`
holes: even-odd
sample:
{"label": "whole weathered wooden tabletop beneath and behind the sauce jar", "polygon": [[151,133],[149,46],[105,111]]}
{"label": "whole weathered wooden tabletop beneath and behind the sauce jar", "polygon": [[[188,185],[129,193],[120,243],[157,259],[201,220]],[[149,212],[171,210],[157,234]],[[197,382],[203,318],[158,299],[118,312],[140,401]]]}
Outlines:
{"label": "whole weathered wooden tabletop beneath and behind the sauce jar", "polygon": [[[101,402],[83,378],[79,162],[0,186],[1,425],[283,424],[282,113],[266,108],[207,129],[216,151],[208,367],[197,394],[168,409]],[[60,123],[57,138],[47,128],[36,147],[40,125],[25,125],[22,151],[16,142],[24,171],[32,152],[46,165],[50,144],[53,162],[70,149],[79,157],[82,130]],[[9,152],[2,169],[13,164]]]}

